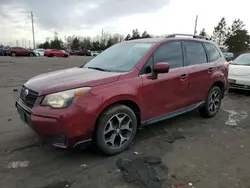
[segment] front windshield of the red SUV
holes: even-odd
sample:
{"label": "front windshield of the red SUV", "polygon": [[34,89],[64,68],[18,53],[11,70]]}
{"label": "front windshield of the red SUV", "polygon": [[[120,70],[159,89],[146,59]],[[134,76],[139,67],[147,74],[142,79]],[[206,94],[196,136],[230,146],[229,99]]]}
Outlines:
{"label": "front windshield of the red SUV", "polygon": [[119,43],[103,51],[83,67],[112,72],[128,72],[153,45],[154,43]]}

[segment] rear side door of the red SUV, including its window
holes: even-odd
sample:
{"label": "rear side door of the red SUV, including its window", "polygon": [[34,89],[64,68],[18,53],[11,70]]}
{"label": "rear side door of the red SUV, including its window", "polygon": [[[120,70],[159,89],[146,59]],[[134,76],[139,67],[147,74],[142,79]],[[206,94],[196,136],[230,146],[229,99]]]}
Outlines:
{"label": "rear side door of the red SUV, including its window", "polygon": [[206,99],[211,87],[211,65],[203,44],[199,41],[183,41],[185,65],[189,69],[187,96],[189,105],[198,104]]}

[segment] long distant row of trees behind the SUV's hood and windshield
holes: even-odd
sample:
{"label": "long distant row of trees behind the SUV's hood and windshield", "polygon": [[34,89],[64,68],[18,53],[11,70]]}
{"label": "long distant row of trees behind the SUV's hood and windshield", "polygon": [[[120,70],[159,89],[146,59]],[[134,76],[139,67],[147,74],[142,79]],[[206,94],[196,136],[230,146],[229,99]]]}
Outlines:
{"label": "long distant row of trees behind the SUV's hood and windshield", "polygon": [[65,37],[65,40],[62,41],[57,36],[54,36],[54,39],[51,41],[46,41],[38,45],[38,48],[44,49],[70,49],[73,51],[77,50],[92,50],[100,51],[109,48],[110,46],[122,42],[124,40],[133,40],[140,38],[150,38],[151,36],[144,31],[142,34],[138,29],[132,30],[132,33],[127,34],[124,38],[120,34],[110,34],[102,33],[94,38],[91,37],[80,37],[80,36],[68,36]]}

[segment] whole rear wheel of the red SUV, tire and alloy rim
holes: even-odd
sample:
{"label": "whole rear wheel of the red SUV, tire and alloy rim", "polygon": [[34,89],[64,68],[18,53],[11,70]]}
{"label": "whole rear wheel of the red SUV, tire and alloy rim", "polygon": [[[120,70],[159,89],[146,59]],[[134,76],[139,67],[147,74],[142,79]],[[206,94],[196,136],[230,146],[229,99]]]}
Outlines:
{"label": "whole rear wheel of the red SUV, tire and alloy rim", "polygon": [[211,118],[214,117],[221,106],[222,91],[219,87],[213,86],[208,94],[205,105],[199,109],[202,117]]}

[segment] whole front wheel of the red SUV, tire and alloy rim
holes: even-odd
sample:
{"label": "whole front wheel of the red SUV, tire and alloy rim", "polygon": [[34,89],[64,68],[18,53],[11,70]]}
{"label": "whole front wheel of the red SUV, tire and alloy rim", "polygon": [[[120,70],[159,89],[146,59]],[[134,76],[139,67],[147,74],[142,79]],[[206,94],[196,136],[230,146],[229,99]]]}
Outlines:
{"label": "whole front wheel of the red SUV, tire and alloy rim", "polygon": [[137,118],[125,105],[105,110],[97,121],[96,144],[105,155],[116,155],[131,144],[137,132]]}

